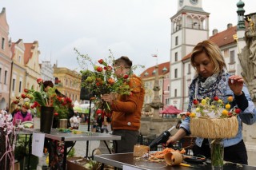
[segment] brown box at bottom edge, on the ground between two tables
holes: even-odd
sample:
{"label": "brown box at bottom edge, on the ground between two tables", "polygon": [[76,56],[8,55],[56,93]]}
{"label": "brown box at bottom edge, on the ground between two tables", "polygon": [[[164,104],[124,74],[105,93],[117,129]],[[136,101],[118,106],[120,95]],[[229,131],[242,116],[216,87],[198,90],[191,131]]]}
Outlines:
{"label": "brown box at bottom edge, on the ground between two tables", "polygon": [[88,160],[82,157],[67,157],[67,170],[89,170],[83,167],[87,162]]}

